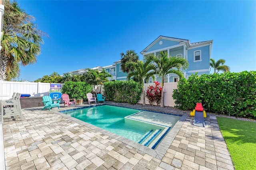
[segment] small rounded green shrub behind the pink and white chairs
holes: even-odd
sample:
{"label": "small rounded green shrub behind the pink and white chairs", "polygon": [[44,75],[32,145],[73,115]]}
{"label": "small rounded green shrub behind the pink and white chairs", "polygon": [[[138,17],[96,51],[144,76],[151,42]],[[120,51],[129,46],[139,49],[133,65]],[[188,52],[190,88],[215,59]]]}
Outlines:
{"label": "small rounded green shrub behind the pink and white chairs", "polygon": [[62,93],[68,94],[69,98],[87,99],[86,94],[92,91],[92,86],[86,82],[65,82]]}

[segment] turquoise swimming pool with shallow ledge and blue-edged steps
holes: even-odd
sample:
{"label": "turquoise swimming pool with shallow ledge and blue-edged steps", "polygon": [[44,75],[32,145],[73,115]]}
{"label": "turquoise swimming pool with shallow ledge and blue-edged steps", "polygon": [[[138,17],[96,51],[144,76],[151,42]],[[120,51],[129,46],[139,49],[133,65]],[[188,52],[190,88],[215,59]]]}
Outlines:
{"label": "turquoise swimming pool with shallow ledge and blue-edged steps", "polygon": [[61,112],[152,149],[180,119],[178,115],[110,105]]}

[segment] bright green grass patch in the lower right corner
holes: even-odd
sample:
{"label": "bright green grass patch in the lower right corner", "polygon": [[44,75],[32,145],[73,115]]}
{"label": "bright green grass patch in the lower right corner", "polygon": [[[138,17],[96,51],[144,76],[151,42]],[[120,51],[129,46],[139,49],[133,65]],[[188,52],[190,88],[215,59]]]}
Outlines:
{"label": "bright green grass patch in the lower right corner", "polygon": [[256,122],[217,117],[236,170],[256,169]]}

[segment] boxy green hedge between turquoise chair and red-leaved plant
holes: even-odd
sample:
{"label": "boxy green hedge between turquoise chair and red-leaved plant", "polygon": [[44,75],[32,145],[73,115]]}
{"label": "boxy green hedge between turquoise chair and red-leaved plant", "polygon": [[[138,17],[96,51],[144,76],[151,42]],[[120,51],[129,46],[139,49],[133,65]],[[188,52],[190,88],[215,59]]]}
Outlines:
{"label": "boxy green hedge between turquoise chair and red-leaved plant", "polygon": [[104,83],[106,100],[136,104],[140,100],[142,87],[134,81],[111,81]]}

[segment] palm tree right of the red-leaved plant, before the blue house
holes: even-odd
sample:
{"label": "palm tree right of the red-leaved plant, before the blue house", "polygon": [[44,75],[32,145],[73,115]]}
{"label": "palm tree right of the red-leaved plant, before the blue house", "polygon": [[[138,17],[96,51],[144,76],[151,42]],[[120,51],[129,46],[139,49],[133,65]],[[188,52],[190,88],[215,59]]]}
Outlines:
{"label": "palm tree right of the red-leaved plant, before the blue house", "polygon": [[145,58],[156,63],[157,74],[162,76],[161,107],[164,107],[164,77],[170,73],[183,77],[182,70],[188,68],[188,61],[184,58],[168,56],[167,52],[163,51],[157,56],[149,54]]}

